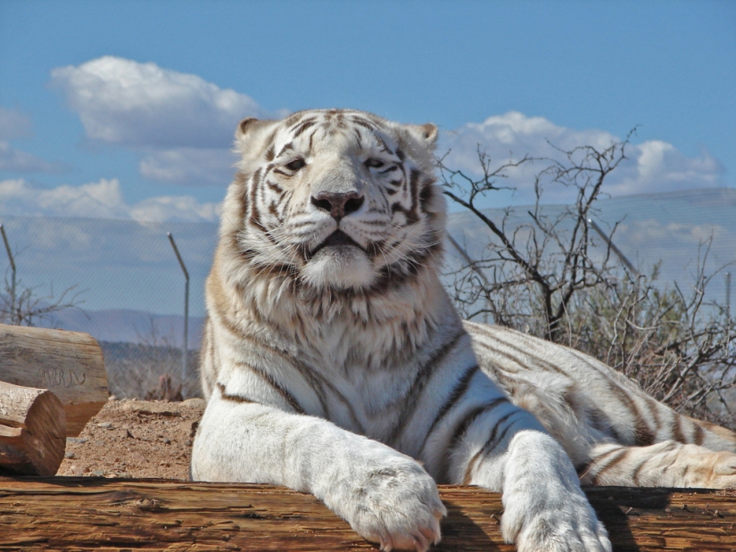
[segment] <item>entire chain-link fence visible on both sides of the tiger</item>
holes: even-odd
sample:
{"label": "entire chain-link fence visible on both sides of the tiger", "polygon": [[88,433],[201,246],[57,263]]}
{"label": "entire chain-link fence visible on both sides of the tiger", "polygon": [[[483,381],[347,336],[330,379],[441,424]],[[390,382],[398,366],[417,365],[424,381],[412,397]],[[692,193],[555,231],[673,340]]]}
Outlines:
{"label": "entire chain-link fence visible on both sides of the tiger", "polygon": [[[736,259],[736,190],[604,200],[600,208],[597,219],[604,230],[623,220],[614,241],[635,265],[647,270],[662,261],[663,284],[689,285],[699,243],[711,237],[708,269]],[[561,206],[547,209],[551,216]],[[487,213],[496,220],[503,216],[500,209]],[[520,224],[526,209],[519,207],[516,213],[517,220],[509,219],[509,225]],[[200,393],[197,350],[205,314],[203,286],[217,243],[217,225],[21,217],[4,217],[0,223],[15,261],[15,295],[28,292],[37,301],[37,316],[24,323],[95,337],[103,347],[111,392],[120,398],[174,398],[179,390],[185,397]],[[481,258],[487,228],[476,218],[455,212],[450,229],[471,257]],[[185,277],[168,232],[191,278],[186,369],[181,350]],[[5,280],[0,307],[7,304],[12,287],[12,267],[2,249],[0,244],[0,274]],[[451,271],[461,260],[452,246],[446,249]],[[719,276],[708,290],[722,303],[724,282]],[[31,303],[25,308],[30,309]],[[54,305],[67,308],[49,309]],[[12,322],[7,310],[0,313],[6,323]]]}

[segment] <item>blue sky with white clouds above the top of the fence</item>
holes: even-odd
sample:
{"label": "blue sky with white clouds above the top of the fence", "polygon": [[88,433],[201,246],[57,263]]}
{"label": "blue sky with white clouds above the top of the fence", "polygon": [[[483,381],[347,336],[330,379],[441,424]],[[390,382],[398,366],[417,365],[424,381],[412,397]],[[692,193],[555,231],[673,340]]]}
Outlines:
{"label": "blue sky with white clouds above the top of the fence", "polygon": [[3,0],[0,215],[215,220],[238,119],[333,106],[471,171],[640,125],[611,194],[733,186],[734,96],[731,1]]}

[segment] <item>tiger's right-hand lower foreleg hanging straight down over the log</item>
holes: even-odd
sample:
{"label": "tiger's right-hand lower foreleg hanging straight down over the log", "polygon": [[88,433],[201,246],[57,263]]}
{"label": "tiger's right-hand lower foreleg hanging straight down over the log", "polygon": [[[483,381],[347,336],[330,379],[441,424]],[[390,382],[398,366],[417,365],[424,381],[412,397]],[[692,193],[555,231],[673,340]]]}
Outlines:
{"label": "tiger's right-hand lower foreleg hanging straight down over the log", "polygon": [[490,441],[474,440],[470,428],[465,450],[456,455],[469,458],[466,482],[502,492],[504,539],[519,552],[610,552],[608,533],[562,447],[541,426],[529,429],[539,424],[524,410],[508,421],[512,426],[503,434],[510,436],[493,432]]}

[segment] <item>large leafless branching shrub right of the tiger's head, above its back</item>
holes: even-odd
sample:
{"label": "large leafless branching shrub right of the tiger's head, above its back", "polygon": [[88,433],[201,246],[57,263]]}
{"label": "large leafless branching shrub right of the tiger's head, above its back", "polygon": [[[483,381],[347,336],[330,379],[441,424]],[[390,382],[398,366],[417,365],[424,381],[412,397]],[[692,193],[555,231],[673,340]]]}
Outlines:
{"label": "large leafless branching shrub right of the tiger's head, above its back", "polygon": [[[497,166],[479,147],[481,177],[439,160],[444,193],[483,223],[490,236],[482,254],[451,272],[453,294],[465,317],[490,317],[552,342],[569,345],[633,378],[657,400],[690,415],[734,427],[736,320],[705,301],[718,273],[705,270],[710,243],[701,244],[690,290],[657,282],[657,270],[624,270],[612,249],[614,225],[604,239],[591,217],[605,180],[625,159],[630,135],[606,149],[590,145],[558,150],[563,161],[525,156]],[[534,175],[535,202],[492,219],[479,207],[504,189],[510,169],[543,164]],[[542,206],[545,187],[565,186],[575,201],[557,210]],[[550,214],[551,213],[551,214]],[[627,261],[626,261],[627,262]]]}

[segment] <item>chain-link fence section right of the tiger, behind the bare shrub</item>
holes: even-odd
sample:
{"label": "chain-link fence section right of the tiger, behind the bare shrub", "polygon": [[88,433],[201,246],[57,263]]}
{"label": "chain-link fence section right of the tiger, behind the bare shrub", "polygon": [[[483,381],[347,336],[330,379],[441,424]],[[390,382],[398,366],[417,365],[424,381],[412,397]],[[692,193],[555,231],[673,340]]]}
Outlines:
{"label": "chain-link fence section right of the tiger, behind the bare shrub", "polygon": [[[726,306],[726,273],[736,272],[736,189],[624,196],[603,199],[596,205],[598,210],[591,213],[596,226],[605,234],[616,227],[613,243],[638,271],[647,276],[657,272],[657,285],[673,288],[677,284],[688,294],[699,268],[703,268],[713,276],[706,300]],[[544,205],[541,215],[555,220],[565,209],[566,205]],[[533,223],[530,210],[533,208],[528,206],[510,210],[505,221],[508,235],[524,232],[523,226]],[[503,209],[484,212],[499,226],[506,215]],[[489,228],[467,212],[451,213],[449,218],[451,235],[468,256],[472,260],[487,258],[488,243],[498,243]],[[559,227],[563,233],[571,229],[570,219]],[[600,245],[597,254],[605,254],[600,235],[593,234],[592,239]],[[467,264],[454,247],[447,249],[451,253],[449,269]]]}

